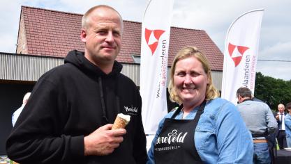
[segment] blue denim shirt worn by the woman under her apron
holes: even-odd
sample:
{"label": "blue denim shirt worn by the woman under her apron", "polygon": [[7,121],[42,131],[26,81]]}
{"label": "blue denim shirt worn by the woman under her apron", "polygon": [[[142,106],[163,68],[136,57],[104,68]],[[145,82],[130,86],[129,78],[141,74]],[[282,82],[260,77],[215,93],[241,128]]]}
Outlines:
{"label": "blue denim shirt worn by the woman under her apron", "polygon": [[[184,119],[194,119],[199,107],[194,108]],[[159,123],[148,151],[147,163],[154,163],[154,144],[165,118],[170,118],[173,114],[174,111],[168,113]],[[181,111],[175,119],[181,120],[182,117]],[[207,101],[204,113],[193,131],[195,146],[203,163],[253,163],[251,133],[246,129],[237,107],[230,101],[221,98]]]}

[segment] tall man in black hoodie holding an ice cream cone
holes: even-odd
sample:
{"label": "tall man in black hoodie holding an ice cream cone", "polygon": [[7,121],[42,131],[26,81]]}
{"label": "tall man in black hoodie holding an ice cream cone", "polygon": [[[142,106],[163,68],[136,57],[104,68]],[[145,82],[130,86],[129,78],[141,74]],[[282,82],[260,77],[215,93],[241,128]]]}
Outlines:
{"label": "tall man in black hoodie holding an ice cream cone", "polygon": [[[146,163],[142,100],[115,61],[123,21],[110,6],[95,6],[82,18],[84,52],[70,51],[65,64],[45,73],[6,142],[19,163]],[[112,130],[118,113],[126,129]]]}

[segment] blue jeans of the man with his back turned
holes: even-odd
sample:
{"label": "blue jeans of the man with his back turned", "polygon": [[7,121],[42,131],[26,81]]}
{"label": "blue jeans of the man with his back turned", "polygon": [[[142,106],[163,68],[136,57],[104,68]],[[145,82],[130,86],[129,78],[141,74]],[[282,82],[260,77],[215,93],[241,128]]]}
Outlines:
{"label": "blue jeans of the man with his back turned", "polygon": [[271,156],[269,154],[269,147],[267,143],[253,144],[253,163],[271,163]]}

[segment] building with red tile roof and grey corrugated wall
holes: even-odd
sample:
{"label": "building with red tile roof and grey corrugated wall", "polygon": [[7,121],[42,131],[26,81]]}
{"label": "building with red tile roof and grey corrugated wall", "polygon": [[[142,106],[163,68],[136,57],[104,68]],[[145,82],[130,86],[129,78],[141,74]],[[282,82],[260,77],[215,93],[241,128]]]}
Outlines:
{"label": "building with red tile roof and grey corrugated wall", "polygon": [[[82,15],[22,6],[16,54],[0,53],[0,155],[5,154],[5,140],[11,115],[22,104],[25,92],[32,90],[38,78],[61,65],[68,51],[82,51],[80,40]],[[140,44],[142,24],[124,20],[121,53],[117,60],[123,74],[140,84]],[[221,90],[223,54],[202,30],[171,27],[168,66],[174,55],[186,45],[198,47],[209,59],[214,85]]]}

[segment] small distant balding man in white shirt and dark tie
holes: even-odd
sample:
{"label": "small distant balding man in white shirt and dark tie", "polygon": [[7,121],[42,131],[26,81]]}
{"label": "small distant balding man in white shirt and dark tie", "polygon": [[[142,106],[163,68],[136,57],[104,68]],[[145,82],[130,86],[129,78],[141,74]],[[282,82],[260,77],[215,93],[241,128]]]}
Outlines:
{"label": "small distant balding man in white shirt and dark tie", "polygon": [[283,104],[278,104],[278,113],[276,115],[278,130],[276,131],[276,138],[278,140],[278,145],[280,149],[284,149],[284,147],[287,147],[284,121],[285,115],[285,106]]}

